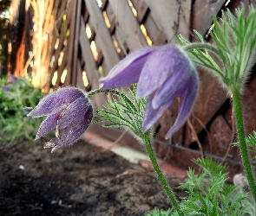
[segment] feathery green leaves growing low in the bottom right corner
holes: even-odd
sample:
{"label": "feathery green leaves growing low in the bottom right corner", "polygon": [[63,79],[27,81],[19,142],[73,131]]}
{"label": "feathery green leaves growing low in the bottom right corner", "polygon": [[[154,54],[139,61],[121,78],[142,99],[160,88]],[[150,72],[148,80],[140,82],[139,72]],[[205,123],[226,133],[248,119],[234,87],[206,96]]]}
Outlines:
{"label": "feathery green leaves growing low in the bottom right corner", "polygon": [[[247,194],[240,188],[226,184],[226,168],[211,159],[194,160],[203,172],[196,175],[192,168],[187,172],[188,180],[181,183],[187,191],[182,198],[181,209],[185,215],[255,215]],[[170,214],[170,215],[176,215]]]}

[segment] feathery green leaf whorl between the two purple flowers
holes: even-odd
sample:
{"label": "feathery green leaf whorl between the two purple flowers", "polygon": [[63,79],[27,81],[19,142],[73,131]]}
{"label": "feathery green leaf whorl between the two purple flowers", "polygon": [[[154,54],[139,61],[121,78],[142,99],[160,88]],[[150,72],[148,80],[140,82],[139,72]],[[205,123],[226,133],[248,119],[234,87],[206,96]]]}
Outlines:
{"label": "feathery green leaf whorl between the two purple flowers", "polygon": [[128,130],[140,142],[145,133],[141,130],[143,116],[146,109],[147,98],[136,98],[136,87],[132,86],[128,91],[113,92],[118,97],[108,99],[108,105],[103,109],[95,108],[95,123],[103,123],[103,127],[113,127]]}

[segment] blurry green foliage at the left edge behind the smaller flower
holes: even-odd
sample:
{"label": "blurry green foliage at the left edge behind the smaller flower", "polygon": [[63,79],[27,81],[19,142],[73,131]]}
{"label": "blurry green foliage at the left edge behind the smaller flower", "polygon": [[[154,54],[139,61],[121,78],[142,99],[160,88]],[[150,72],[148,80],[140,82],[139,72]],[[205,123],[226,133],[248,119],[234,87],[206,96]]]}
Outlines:
{"label": "blurry green foliage at the left edge behind the smaller flower", "polygon": [[[27,118],[25,106],[35,107],[43,93],[25,78],[12,83],[7,77],[0,79],[0,149],[24,138],[34,139],[41,119]],[[8,91],[3,91],[7,86]]]}

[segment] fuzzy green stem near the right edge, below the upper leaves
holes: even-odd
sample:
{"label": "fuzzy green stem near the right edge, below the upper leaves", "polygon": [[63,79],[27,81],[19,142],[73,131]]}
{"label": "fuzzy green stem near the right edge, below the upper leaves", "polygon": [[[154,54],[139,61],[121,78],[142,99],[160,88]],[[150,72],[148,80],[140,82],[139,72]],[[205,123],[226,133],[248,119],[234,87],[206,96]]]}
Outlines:
{"label": "fuzzy green stem near the right edge, below the upper leaves", "polygon": [[233,109],[235,114],[237,133],[240,141],[240,152],[242,156],[242,162],[246,170],[246,176],[253,194],[253,198],[256,201],[256,184],[253,178],[253,170],[251,167],[249,155],[246,148],[246,136],[245,136],[245,129],[244,129],[244,123],[243,123],[242,109],[241,109],[240,92],[235,89],[232,91],[232,93],[233,93]]}

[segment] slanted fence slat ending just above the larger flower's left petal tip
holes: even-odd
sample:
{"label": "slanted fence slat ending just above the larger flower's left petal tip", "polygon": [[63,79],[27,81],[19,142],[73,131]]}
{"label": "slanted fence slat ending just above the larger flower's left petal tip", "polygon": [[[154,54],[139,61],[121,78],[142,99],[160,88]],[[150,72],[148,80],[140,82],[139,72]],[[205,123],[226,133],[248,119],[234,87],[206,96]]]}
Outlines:
{"label": "slanted fence slat ending just above the larger flower's left petal tip", "polygon": [[102,17],[102,12],[99,9],[95,0],[85,0],[86,6],[89,10],[92,25],[95,29],[97,37],[99,37],[99,47],[102,50],[104,60],[106,61],[107,72],[119,61],[118,54],[115,51],[111,35],[109,35],[108,28]]}

